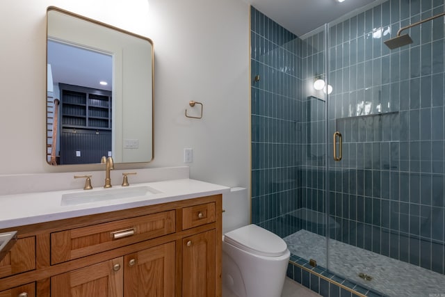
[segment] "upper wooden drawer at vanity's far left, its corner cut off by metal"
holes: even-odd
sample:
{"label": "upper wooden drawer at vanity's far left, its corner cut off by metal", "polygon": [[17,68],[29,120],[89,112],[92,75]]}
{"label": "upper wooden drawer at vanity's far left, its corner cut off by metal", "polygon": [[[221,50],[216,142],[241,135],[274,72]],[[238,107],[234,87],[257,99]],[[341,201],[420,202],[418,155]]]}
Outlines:
{"label": "upper wooden drawer at vanity's far left, its corner cut off by metal", "polygon": [[35,269],[35,236],[17,240],[0,261],[0,278]]}

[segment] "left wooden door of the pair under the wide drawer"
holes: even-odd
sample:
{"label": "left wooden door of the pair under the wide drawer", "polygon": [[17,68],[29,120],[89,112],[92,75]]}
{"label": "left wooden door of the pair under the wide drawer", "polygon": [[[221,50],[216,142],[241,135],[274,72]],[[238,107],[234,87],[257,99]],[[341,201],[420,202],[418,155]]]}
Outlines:
{"label": "left wooden door of the pair under the wide drawer", "polygon": [[122,257],[51,278],[51,296],[122,297]]}

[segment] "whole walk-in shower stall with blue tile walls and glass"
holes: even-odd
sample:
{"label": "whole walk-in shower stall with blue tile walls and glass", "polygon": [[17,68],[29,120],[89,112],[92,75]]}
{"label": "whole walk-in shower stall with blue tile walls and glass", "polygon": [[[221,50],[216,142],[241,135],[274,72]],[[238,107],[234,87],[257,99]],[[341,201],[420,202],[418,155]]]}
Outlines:
{"label": "whole walk-in shower stall with blue tile walls and glass", "polygon": [[252,223],[299,271],[445,295],[444,10],[378,1],[297,37],[252,8]]}

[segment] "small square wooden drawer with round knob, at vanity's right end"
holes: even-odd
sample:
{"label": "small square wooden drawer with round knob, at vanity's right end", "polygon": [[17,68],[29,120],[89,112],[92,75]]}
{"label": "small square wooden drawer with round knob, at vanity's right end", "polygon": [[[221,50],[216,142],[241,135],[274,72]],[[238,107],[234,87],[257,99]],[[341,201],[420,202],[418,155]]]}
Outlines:
{"label": "small square wooden drawer with round knob, at vanity's right end", "polygon": [[215,202],[193,205],[182,209],[182,229],[190,229],[216,220]]}

